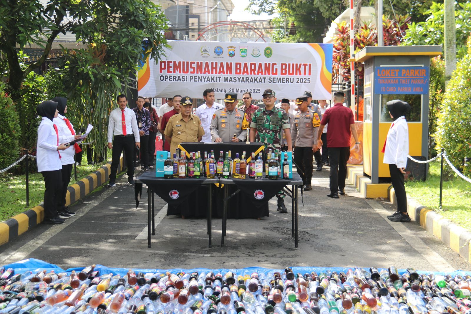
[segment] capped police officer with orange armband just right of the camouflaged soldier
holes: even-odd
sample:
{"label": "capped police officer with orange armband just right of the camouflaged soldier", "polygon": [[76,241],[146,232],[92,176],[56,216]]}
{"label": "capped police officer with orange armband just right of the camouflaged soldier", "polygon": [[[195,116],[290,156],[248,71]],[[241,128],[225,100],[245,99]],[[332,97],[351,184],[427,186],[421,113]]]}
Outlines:
{"label": "capped police officer with orange armband just right of the camouflaged soldier", "polygon": [[321,120],[316,112],[309,110],[308,97],[296,99],[298,113],[294,116],[291,127],[293,160],[298,174],[304,183],[304,190],[312,190],[312,157],[317,148],[317,130]]}

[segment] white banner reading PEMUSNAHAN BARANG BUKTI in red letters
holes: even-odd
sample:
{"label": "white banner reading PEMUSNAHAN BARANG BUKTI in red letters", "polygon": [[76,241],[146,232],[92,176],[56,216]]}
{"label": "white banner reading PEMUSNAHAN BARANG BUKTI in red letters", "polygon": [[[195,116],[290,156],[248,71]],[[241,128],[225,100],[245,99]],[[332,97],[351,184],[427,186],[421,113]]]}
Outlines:
{"label": "white banner reading PEMUSNAHAN BARANG BUKTI in red letters", "polygon": [[203,98],[212,88],[216,99],[245,91],[261,99],[265,89],[276,98],[331,99],[332,44],[169,41],[166,58],[147,59],[138,72],[138,94]]}

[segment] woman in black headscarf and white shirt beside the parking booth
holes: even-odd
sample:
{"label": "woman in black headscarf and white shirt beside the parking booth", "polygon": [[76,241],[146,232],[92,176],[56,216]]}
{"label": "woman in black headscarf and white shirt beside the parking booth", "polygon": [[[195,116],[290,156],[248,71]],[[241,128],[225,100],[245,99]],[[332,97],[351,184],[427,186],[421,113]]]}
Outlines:
{"label": "woman in black headscarf and white shirt beside the parking booth", "polygon": [[389,164],[391,183],[398,198],[398,210],[388,216],[390,221],[411,221],[407,214],[406,188],[404,187],[404,174],[406,173],[407,155],[409,154],[409,130],[407,128],[406,114],[410,105],[402,100],[391,100],[386,103],[389,114],[394,120],[389,129],[384,148],[383,163]]}

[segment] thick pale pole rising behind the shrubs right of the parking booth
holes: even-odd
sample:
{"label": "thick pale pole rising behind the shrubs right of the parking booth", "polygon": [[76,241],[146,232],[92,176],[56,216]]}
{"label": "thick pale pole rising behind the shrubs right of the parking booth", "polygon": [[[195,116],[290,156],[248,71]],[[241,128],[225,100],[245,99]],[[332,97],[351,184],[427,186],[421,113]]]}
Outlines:
{"label": "thick pale pole rising behind the shrubs right of the parking booth", "polygon": [[455,0],[445,0],[445,89],[456,69]]}

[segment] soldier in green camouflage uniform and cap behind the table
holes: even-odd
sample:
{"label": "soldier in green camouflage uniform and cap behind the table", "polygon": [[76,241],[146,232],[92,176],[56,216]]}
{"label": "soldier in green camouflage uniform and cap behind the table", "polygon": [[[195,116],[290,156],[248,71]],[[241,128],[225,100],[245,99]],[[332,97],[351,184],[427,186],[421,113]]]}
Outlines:
{"label": "soldier in green camouflage uniform and cap behind the table", "polygon": [[[292,151],[291,145],[291,132],[289,117],[284,110],[275,107],[276,97],[275,92],[272,90],[263,91],[263,104],[265,108],[257,109],[252,116],[250,124],[250,141],[263,143],[265,154],[269,149],[278,153],[281,152],[283,143],[283,135],[286,136],[288,142],[288,151]],[[284,193],[280,191],[276,194],[278,198],[277,211],[280,213],[287,213],[288,210],[284,206]]]}

